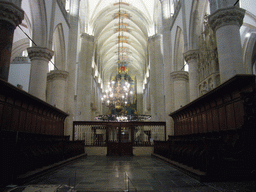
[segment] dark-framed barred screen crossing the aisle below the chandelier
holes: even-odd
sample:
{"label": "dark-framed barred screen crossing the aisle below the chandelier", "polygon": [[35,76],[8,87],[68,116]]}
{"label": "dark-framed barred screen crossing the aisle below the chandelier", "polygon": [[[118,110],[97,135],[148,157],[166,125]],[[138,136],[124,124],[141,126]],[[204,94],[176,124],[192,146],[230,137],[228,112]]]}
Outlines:
{"label": "dark-framed barred screen crossing the aisle below the chandelier", "polygon": [[73,139],[84,140],[87,146],[106,146],[122,139],[133,146],[153,146],[154,140],[166,140],[166,123],[74,121]]}

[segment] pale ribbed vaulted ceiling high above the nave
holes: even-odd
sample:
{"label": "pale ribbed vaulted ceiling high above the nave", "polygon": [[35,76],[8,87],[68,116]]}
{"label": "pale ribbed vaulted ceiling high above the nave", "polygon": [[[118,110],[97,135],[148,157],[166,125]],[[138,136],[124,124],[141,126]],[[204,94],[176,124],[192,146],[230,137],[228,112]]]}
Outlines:
{"label": "pale ribbed vaulted ceiling high above the nave", "polygon": [[[106,81],[116,74],[119,57],[128,61],[129,75],[143,79],[148,63],[147,39],[154,32],[154,0],[91,0],[89,25]],[[120,10],[120,15],[118,14]]]}

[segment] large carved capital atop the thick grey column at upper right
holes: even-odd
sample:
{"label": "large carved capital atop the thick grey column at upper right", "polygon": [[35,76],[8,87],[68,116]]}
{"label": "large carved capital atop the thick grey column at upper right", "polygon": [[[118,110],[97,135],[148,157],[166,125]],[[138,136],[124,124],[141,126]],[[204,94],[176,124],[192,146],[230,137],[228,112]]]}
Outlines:
{"label": "large carved capital atop the thick grey column at upper right", "polygon": [[240,27],[243,24],[244,15],[245,10],[238,7],[219,9],[209,16],[209,24],[213,31],[226,25],[238,25]]}

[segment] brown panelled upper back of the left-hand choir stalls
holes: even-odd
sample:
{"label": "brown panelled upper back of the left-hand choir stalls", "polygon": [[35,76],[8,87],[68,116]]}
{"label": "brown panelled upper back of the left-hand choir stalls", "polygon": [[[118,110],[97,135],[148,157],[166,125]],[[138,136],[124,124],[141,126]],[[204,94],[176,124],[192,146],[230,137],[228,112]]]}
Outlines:
{"label": "brown panelled upper back of the left-hand choir stalls", "polygon": [[64,134],[68,114],[0,80],[0,131]]}

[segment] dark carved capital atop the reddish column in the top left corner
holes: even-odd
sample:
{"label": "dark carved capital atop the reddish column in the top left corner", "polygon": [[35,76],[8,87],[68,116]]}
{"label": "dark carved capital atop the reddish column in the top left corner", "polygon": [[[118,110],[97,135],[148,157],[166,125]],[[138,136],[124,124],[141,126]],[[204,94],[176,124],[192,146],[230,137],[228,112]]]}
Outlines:
{"label": "dark carved capital atop the reddish column in the top left corner", "polygon": [[13,3],[0,2],[0,20],[18,26],[24,19],[24,11]]}

